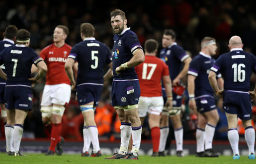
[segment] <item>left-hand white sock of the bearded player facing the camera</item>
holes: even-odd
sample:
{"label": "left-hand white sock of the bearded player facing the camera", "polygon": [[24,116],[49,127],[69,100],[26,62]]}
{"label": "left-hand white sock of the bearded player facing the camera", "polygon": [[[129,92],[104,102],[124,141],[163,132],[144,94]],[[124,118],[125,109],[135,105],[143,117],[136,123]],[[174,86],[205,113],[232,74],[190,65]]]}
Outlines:
{"label": "left-hand white sock of the bearded player facing the camera", "polygon": [[132,124],[131,123],[121,123],[121,145],[119,149],[119,154],[126,154],[128,151],[129,140],[132,134]]}

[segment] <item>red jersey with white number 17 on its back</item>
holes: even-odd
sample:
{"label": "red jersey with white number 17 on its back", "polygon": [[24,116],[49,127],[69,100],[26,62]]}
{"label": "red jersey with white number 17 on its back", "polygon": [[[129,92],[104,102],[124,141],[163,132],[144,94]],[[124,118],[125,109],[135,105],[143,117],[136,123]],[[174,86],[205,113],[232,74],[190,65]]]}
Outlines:
{"label": "red jersey with white number 17 on its back", "polygon": [[145,55],[145,61],[135,67],[140,82],[141,96],[162,96],[161,79],[169,75],[168,66],[155,56]]}

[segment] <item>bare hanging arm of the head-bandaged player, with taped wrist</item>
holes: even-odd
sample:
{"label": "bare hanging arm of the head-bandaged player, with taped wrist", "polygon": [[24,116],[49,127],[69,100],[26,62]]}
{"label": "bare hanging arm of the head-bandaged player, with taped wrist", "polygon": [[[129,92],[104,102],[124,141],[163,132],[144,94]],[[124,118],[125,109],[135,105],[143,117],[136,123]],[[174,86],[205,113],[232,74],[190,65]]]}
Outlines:
{"label": "bare hanging arm of the head-bandaged player, with taped wrist", "polygon": [[188,77],[187,77],[187,91],[189,94],[188,106],[189,106],[189,108],[191,108],[193,110],[196,110],[196,108],[197,108],[196,102],[195,102],[195,95],[194,95],[195,79],[196,79],[196,77],[193,75],[188,75]]}

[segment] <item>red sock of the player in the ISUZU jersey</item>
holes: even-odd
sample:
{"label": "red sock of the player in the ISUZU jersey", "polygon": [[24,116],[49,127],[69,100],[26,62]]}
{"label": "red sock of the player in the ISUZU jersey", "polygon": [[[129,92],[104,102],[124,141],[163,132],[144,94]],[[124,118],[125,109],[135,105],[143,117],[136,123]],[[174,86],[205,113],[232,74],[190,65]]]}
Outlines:
{"label": "red sock of the player in the ISUZU jersey", "polygon": [[49,150],[52,150],[53,152],[55,152],[55,147],[57,143],[60,141],[61,129],[62,129],[61,123],[52,124]]}

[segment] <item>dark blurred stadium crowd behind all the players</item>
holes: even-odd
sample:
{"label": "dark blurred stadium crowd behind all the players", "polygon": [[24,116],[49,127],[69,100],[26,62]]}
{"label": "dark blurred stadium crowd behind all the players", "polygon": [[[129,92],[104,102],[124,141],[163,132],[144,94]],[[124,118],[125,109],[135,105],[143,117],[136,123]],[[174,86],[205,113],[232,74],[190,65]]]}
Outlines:
{"label": "dark blurred stadium crowd behind all the players", "polygon": [[[171,28],[176,31],[178,45],[181,45],[192,57],[200,51],[200,41],[205,36],[217,40],[217,58],[228,52],[228,41],[233,35],[239,35],[244,43],[244,50],[256,54],[256,6],[255,0],[83,0],[75,3],[65,0],[1,0],[0,1],[0,39],[9,24],[16,25],[31,32],[31,48],[39,52],[53,43],[53,30],[57,25],[69,27],[70,34],[66,43],[73,46],[81,41],[79,27],[83,22],[90,22],[96,28],[95,38],[111,49],[113,33],[109,13],[115,8],[126,12],[128,27],[136,32],[141,45],[153,38],[161,45],[163,30]],[[159,46],[159,49],[161,46]],[[251,78],[252,87],[256,82]],[[41,80],[33,88],[33,111],[29,112],[24,124],[23,137],[50,137],[43,126],[40,113],[40,101],[45,81]],[[186,80],[185,80],[186,84]],[[120,122],[110,102],[111,81],[105,83],[101,103],[96,109],[95,121],[102,137],[113,139],[120,132]],[[184,139],[194,139],[197,116],[187,107],[184,96],[182,124]],[[227,120],[218,103],[220,121],[216,129],[216,139],[227,139]],[[256,104],[256,101],[255,101]],[[256,107],[252,119],[256,122]],[[2,122],[1,122],[2,123]],[[76,93],[72,92],[70,104],[66,107],[62,119],[62,136],[82,140],[83,117],[79,109]],[[171,127],[171,126],[170,126]],[[50,127],[49,127],[50,128]],[[147,123],[144,123],[143,139],[150,138]],[[170,130],[172,132],[173,130]],[[243,130],[240,134],[243,135]],[[1,125],[1,136],[4,135]]]}

